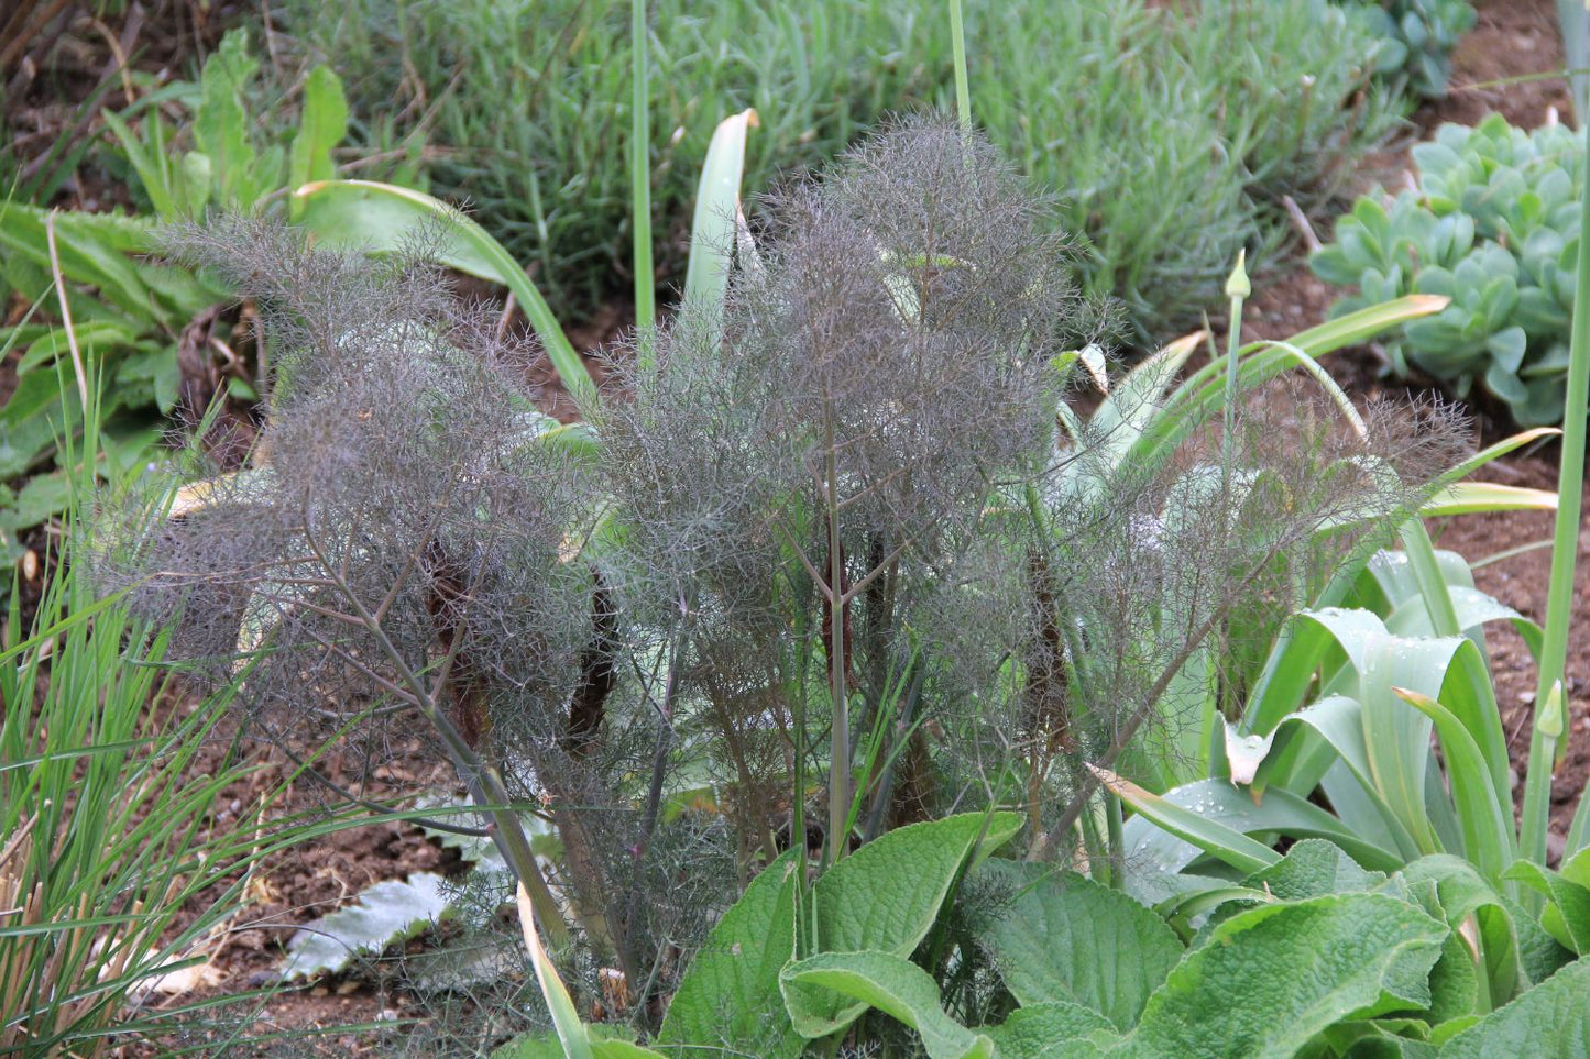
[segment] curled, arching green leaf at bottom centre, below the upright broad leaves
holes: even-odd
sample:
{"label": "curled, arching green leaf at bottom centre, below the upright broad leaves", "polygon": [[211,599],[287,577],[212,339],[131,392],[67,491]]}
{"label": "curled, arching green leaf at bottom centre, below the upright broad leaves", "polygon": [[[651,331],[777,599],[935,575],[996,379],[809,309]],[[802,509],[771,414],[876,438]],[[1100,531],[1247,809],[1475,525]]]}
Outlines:
{"label": "curled, arching green leaf at bottom centre, below the upright broad leaves", "polygon": [[929,1059],[994,1056],[994,1042],[944,1014],[938,983],[905,957],[878,951],[819,952],[785,967],[779,981],[785,986],[790,1019],[805,1037],[825,1037],[836,1029],[828,1021],[828,1005],[811,1007],[814,997],[836,992],[914,1029]]}

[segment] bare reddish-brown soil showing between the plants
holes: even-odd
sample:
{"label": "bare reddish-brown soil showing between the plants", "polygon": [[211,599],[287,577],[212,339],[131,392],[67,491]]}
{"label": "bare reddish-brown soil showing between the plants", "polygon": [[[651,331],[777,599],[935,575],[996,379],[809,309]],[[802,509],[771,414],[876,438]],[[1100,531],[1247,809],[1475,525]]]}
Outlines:
{"label": "bare reddish-brown soil showing between the plants", "polygon": [[[1550,108],[1561,110],[1568,105],[1566,91],[1555,80],[1472,87],[1565,65],[1552,0],[1480,0],[1477,6],[1479,27],[1464,40],[1455,57],[1453,92],[1439,103],[1420,108],[1415,114],[1420,134],[1433,130],[1442,121],[1474,121],[1487,110],[1499,110],[1509,121],[1533,127],[1547,121]],[[1399,175],[1407,165],[1406,146],[1383,151],[1363,170],[1363,186],[1372,183],[1393,186],[1399,183]],[[91,197],[105,199],[94,189],[78,191],[80,205]],[[1304,267],[1261,275],[1256,286],[1256,296],[1245,315],[1248,337],[1280,337],[1312,326],[1324,318],[1332,297],[1331,291]],[[585,351],[611,340],[631,313],[625,304],[607,305],[596,313],[588,329],[576,334],[576,342]],[[1374,350],[1350,351],[1329,364],[1332,374],[1356,399],[1382,393],[1423,396],[1425,391],[1418,386],[1382,382],[1377,367]],[[534,370],[544,382],[552,382],[550,366],[542,364]],[[549,390],[555,393],[558,388],[549,385]],[[6,374],[0,366],[0,402],[6,396]],[[553,404],[552,410],[566,415],[568,405]],[[1501,433],[1503,426],[1490,418],[1488,410],[1480,409],[1476,434],[1491,440]],[[1545,445],[1539,452],[1498,461],[1479,477],[1550,490],[1557,483],[1555,452]],[[1433,526],[1433,533],[1439,547],[1453,549],[1471,561],[1479,561],[1549,539],[1550,525],[1550,517],[1539,512],[1464,515],[1448,520],[1447,525]],[[35,537],[32,545],[43,550],[41,541]],[[1587,630],[1590,628],[1590,533],[1580,534],[1579,547],[1574,620],[1579,630]],[[1542,620],[1549,557],[1549,550],[1533,550],[1490,563],[1476,571],[1477,587],[1526,617]],[[38,576],[43,577],[43,572]],[[1528,722],[1533,716],[1534,666],[1522,639],[1510,628],[1493,626],[1488,638],[1509,751],[1522,786],[1530,741]],[[1558,836],[1566,832],[1579,792],[1590,779],[1590,636],[1580,634],[1571,644],[1568,681],[1571,744],[1568,760],[1558,771],[1552,816],[1553,833]],[[219,749],[215,754],[218,755]],[[261,792],[272,789],[294,768],[280,749],[259,746],[253,754],[259,771],[223,795],[224,809],[215,819],[218,827],[254,825],[251,813]],[[216,757],[207,760],[213,762]],[[396,773],[369,774],[359,762],[342,758],[326,762],[321,771],[332,782],[359,787],[364,797],[374,800],[396,793],[417,781],[434,782],[444,789],[448,786],[447,768],[423,755],[418,743],[383,768]],[[402,786],[388,784],[388,779],[402,781]],[[272,813],[308,809],[320,805],[324,797],[323,789],[299,781],[285,801],[272,806]],[[269,984],[280,959],[278,946],[294,925],[345,903],[370,882],[404,878],[415,871],[447,871],[456,863],[455,852],[442,849],[418,828],[399,824],[342,830],[285,852],[264,865],[253,879],[246,917],[232,924],[234,933],[218,949],[213,962],[215,981],[194,994],[173,995],[162,1003],[189,1002],[194,997],[223,995]],[[380,964],[372,962],[358,975],[270,997],[248,1032],[288,1034],[420,1014],[421,1010],[409,1002],[401,981],[396,976],[385,976]],[[278,1054],[310,1054],[310,1049],[315,1049],[315,1054],[366,1051],[386,1054],[386,1048],[372,1045],[370,1040],[370,1034],[351,1032],[289,1038],[280,1045]]]}

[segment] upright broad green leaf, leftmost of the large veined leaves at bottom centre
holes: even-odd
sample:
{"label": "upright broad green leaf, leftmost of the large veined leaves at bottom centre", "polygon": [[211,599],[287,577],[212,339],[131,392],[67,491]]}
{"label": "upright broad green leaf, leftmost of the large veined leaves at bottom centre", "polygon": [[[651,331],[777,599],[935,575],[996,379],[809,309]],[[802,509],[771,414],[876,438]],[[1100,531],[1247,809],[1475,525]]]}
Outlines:
{"label": "upright broad green leaf, leftmost of the large veined leaves at bottom centre", "polygon": [[797,863],[790,851],[768,865],[712,927],[657,1035],[665,1054],[693,1056],[692,1045],[708,1042],[768,1059],[800,1054],[779,992],[779,970],[795,954]]}

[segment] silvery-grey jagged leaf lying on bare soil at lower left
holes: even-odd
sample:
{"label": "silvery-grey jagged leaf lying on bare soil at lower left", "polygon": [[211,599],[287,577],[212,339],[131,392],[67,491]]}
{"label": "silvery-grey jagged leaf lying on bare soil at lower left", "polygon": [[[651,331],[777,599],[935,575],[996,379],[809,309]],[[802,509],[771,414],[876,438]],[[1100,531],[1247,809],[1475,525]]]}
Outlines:
{"label": "silvery-grey jagged leaf lying on bare soil at lower left", "polygon": [[385,879],[347,908],[308,922],[288,941],[281,978],[335,973],[359,956],[407,941],[450,914],[442,876],[428,871],[409,881]]}

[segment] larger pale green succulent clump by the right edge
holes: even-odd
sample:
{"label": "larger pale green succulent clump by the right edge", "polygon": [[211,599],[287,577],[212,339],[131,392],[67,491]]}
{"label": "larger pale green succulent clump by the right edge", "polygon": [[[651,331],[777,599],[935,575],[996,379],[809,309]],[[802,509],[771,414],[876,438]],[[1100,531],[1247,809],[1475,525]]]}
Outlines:
{"label": "larger pale green succulent clump by the right edge", "polygon": [[1336,223],[1315,273],[1358,293],[1332,315],[1401,294],[1452,299],[1386,343],[1399,377],[1456,396],[1476,382],[1525,426],[1561,417],[1584,162],[1565,126],[1523,132],[1499,114],[1442,126],[1414,148],[1415,189],[1364,196]]}

